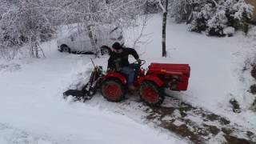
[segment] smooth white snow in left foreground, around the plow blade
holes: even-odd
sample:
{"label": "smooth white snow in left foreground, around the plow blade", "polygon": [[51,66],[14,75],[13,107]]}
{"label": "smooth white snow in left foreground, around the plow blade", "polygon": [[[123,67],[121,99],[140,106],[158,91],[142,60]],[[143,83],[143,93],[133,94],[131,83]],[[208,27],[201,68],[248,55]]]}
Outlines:
{"label": "smooth white snow in left foreground, around the plow blade", "polygon": [[46,59],[13,63],[1,71],[0,143],[185,143],[122,114],[64,101],[72,70],[90,61],[60,54],[53,43],[44,46]]}

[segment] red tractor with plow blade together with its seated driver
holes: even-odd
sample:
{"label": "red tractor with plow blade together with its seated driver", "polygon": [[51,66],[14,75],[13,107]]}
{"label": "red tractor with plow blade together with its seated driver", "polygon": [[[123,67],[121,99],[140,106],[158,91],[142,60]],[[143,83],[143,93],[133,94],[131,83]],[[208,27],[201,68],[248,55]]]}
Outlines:
{"label": "red tractor with plow blade together with its seated driver", "polygon": [[[118,42],[112,47],[106,73],[102,66],[94,65],[89,82],[82,90],[67,90],[63,94],[65,97],[73,95],[85,102],[100,89],[107,101],[121,102],[125,99],[128,85],[132,93],[138,88],[140,98],[147,105],[160,106],[165,98],[164,89],[187,90],[190,78],[188,64],[151,63],[147,70],[143,70],[145,61],[139,59],[134,49],[124,48]],[[130,54],[137,62],[129,63]],[[94,64],[93,60],[92,63]]]}

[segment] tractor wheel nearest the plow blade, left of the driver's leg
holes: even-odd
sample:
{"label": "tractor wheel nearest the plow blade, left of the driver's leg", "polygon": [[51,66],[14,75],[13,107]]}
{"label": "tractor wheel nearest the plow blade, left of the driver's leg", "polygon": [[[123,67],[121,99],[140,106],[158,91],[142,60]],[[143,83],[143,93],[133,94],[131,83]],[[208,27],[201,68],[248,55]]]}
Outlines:
{"label": "tractor wheel nearest the plow blade, left of the driver's leg", "polygon": [[107,78],[102,82],[102,95],[110,102],[121,102],[125,99],[125,86],[115,78]]}

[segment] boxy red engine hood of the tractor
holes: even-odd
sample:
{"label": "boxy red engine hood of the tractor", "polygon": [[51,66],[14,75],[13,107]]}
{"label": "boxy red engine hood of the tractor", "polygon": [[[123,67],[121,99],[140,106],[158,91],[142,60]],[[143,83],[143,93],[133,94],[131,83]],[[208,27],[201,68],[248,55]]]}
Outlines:
{"label": "boxy red engine hood of the tractor", "polygon": [[149,75],[162,75],[162,81],[166,82],[169,78],[178,77],[175,88],[172,90],[187,90],[190,78],[190,66],[188,64],[167,64],[151,63],[148,70]]}

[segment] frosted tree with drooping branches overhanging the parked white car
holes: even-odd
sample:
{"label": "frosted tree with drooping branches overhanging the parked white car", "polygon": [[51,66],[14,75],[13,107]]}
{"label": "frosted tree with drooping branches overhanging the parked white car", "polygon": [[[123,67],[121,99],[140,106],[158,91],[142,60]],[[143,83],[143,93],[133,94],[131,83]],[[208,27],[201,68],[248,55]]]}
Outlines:
{"label": "frosted tree with drooping branches overhanging the parked white car", "polygon": [[138,14],[144,13],[146,0],[52,0],[54,5],[34,5],[38,9],[54,11],[55,21],[64,24],[78,23],[79,29],[87,30],[95,51],[94,31],[98,26],[133,26]]}

